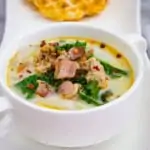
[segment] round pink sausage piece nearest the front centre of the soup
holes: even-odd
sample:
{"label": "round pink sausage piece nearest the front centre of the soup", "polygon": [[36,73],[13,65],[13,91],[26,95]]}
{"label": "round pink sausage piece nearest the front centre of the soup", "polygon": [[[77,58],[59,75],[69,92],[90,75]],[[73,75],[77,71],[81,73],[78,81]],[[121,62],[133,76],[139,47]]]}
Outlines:
{"label": "round pink sausage piece nearest the front centre of the soup", "polygon": [[78,93],[79,85],[73,84],[71,81],[64,81],[58,89],[58,92],[64,98],[72,98]]}

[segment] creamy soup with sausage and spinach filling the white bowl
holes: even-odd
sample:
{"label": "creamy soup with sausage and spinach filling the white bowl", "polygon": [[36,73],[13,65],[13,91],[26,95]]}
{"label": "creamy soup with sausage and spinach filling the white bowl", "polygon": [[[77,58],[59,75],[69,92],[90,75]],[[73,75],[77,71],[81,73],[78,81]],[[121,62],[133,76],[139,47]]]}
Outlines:
{"label": "creamy soup with sausage and spinach filling the white bowl", "polygon": [[82,110],[104,105],[133,84],[128,60],[94,40],[57,38],[21,47],[11,58],[8,86],[35,105]]}

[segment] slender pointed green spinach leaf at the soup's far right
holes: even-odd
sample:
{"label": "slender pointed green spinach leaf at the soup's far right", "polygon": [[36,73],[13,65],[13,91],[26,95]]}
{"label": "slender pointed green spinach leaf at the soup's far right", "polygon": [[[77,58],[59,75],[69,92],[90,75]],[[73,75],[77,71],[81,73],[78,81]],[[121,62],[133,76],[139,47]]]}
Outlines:
{"label": "slender pointed green spinach leaf at the soup's far right", "polygon": [[102,60],[100,60],[100,63],[103,65],[106,74],[109,75],[111,78],[120,78],[122,76],[128,75],[128,72],[126,70],[116,68]]}

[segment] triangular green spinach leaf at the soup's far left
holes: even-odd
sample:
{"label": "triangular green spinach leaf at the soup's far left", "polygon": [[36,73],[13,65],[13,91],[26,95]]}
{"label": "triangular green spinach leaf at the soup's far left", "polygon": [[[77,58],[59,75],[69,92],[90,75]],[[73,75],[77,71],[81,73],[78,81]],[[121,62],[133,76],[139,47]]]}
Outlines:
{"label": "triangular green spinach leaf at the soup's far left", "polygon": [[15,84],[15,87],[21,90],[27,99],[31,99],[38,87],[37,75],[31,75]]}

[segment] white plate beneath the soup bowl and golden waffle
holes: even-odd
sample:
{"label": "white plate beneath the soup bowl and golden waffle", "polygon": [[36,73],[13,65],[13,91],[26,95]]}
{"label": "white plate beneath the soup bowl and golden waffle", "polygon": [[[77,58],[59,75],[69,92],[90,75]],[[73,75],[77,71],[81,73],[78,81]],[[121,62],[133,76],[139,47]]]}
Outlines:
{"label": "white plate beneath the soup bowl and golden waffle", "polygon": [[[109,6],[103,14],[84,22],[106,28],[118,34],[141,34],[140,25],[140,1],[139,0],[110,0]],[[48,26],[50,22],[40,17],[36,12],[32,12],[27,6],[23,5],[22,0],[7,0],[7,23],[2,46],[13,42],[14,38],[23,36],[37,28]],[[148,63],[148,58],[147,64]],[[150,68],[150,67],[149,67]],[[144,88],[145,95],[139,106],[137,106],[137,117],[132,126],[117,135],[111,140],[101,144],[82,148],[85,150],[148,150],[148,105],[150,104],[150,93],[148,86],[150,79],[150,69],[145,75]],[[3,137],[0,136],[1,150],[61,150],[67,148],[54,148],[30,141],[20,135],[17,129],[10,128],[10,118],[3,122]],[[8,132],[7,132],[8,131]],[[7,134],[6,134],[7,132]],[[5,135],[4,135],[5,134]],[[79,149],[79,148],[74,148]]]}

